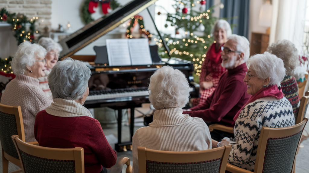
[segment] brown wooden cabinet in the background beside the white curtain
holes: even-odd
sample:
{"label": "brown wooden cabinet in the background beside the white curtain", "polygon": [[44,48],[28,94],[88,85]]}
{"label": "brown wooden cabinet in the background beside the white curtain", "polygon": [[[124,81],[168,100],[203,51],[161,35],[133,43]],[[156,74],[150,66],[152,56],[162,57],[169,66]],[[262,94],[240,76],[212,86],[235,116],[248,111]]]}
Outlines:
{"label": "brown wooden cabinet in the background beside the white curtain", "polygon": [[250,56],[264,53],[269,44],[269,34],[252,32],[250,43]]}

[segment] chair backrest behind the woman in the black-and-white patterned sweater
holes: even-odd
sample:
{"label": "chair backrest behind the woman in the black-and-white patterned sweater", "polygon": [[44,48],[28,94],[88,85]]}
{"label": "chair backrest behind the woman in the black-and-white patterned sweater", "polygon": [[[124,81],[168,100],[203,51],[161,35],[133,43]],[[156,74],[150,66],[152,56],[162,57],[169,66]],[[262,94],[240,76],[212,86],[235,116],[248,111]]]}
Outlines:
{"label": "chair backrest behind the woman in the black-and-white patterned sweater", "polygon": [[296,152],[307,121],[305,117],[303,122],[290,127],[262,127],[254,172],[293,172]]}

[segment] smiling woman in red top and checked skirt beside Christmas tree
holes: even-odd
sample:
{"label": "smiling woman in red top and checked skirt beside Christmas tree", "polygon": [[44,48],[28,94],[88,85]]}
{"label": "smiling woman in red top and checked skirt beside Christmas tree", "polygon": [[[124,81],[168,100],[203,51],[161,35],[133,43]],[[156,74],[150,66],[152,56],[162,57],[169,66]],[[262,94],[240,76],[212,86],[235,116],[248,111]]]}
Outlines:
{"label": "smiling woman in red top and checked skirt beside Christmas tree", "polygon": [[205,61],[203,62],[200,76],[200,98],[194,98],[193,106],[205,102],[218,86],[219,79],[225,72],[221,66],[221,46],[226,43],[227,38],[232,34],[231,26],[226,20],[219,20],[213,28],[215,42],[208,48]]}

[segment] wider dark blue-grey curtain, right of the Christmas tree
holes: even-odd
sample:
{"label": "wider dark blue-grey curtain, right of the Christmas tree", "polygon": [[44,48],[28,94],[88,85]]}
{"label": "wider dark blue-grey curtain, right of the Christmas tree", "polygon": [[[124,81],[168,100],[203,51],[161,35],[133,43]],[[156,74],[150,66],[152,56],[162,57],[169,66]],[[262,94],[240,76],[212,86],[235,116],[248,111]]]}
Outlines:
{"label": "wider dark blue-grey curtain, right of the Christmas tree", "polygon": [[250,0],[221,0],[221,2],[224,8],[220,9],[220,18],[228,18],[233,34],[248,38]]}

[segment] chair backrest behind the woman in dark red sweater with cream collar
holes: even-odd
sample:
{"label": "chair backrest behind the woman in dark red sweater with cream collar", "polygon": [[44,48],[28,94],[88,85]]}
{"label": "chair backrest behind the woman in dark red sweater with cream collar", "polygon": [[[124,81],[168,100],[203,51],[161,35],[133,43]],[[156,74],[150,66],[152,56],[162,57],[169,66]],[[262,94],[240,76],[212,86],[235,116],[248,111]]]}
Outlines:
{"label": "chair backrest behind the woman in dark red sweater with cream collar", "polygon": [[18,135],[11,137],[24,173],[84,173],[84,149],[49,148],[23,142]]}

